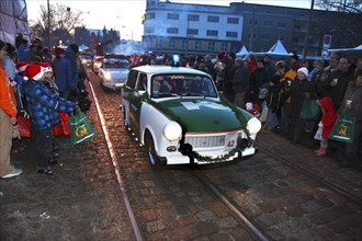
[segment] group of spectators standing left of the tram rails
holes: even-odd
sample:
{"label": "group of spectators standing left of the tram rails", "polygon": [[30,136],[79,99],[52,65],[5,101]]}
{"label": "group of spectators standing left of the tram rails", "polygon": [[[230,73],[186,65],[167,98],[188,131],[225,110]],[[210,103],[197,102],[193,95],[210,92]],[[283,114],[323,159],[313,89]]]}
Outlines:
{"label": "group of spectators standing left of the tram rails", "polygon": [[55,55],[38,38],[29,45],[20,34],[14,44],[0,41],[0,176],[9,179],[22,173],[10,160],[12,141],[20,138],[20,118],[31,123],[36,172],[52,175],[59,156],[53,133],[60,122],[59,113],[75,112],[79,104],[89,108],[90,101],[84,104],[79,97],[87,95],[87,70],[76,44],[56,48]]}

